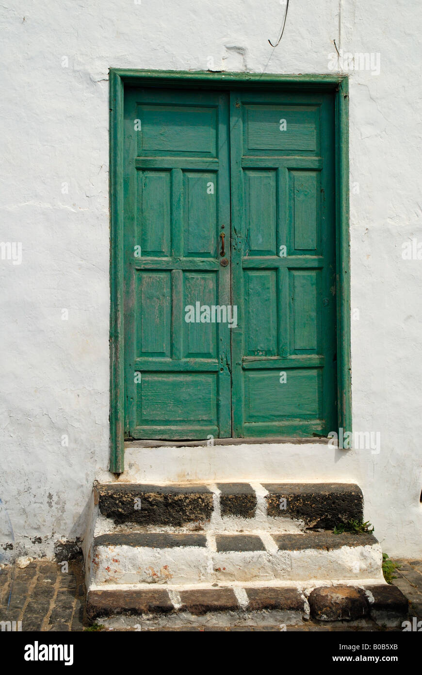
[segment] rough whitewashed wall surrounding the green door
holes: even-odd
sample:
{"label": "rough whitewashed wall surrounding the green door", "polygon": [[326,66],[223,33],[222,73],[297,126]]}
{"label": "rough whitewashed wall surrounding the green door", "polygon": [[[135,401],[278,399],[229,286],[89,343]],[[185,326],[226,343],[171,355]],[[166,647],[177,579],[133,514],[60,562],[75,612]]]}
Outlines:
{"label": "rough whitewashed wall surrounding the green door", "polygon": [[22,264],[0,260],[0,498],[20,551],[50,555],[82,535],[94,477],[109,477],[109,68],[206,70],[213,57],[226,70],[324,73],[335,38],[381,55],[379,75],[350,83],[353,424],[381,431],[381,451],[269,448],[260,469],[257,446],[247,456],[273,479],[357,481],[384,550],[422,555],[422,261],[401,257],[402,242],[422,241],[419,2],[291,0],[272,49],[283,11],[278,0],[3,3],[0,241],[22,242]]}

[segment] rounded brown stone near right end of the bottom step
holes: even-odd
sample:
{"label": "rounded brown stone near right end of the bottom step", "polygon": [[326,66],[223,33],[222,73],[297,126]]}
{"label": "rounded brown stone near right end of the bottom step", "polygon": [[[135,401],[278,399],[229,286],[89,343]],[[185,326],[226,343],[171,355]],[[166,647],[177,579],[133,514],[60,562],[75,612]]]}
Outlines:
{"label": "rounded brown stone near right end of the bottom step", "polygon": [[311,615],[320,621],[356,620],[369,612],[365,591],[353,586],[322,586],[313,589],[308,602]]}

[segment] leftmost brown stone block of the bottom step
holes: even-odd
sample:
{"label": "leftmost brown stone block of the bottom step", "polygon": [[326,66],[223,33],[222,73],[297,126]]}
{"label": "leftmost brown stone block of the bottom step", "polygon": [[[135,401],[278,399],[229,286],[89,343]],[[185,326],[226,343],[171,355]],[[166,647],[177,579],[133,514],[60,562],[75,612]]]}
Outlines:
{"label": "leftmost brown stone block of the bottom step", "polygon": [[90,620],[114,614],[148,614],[172,612],[173,603],[164,589],[131,591],[89,591],[86,614]]}

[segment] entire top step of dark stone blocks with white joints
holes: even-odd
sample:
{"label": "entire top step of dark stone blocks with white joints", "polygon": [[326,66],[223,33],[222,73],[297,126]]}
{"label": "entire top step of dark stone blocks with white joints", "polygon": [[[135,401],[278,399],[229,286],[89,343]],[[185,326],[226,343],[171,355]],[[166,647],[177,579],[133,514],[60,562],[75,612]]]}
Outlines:
{"label": "entire top step of dark stone blocks with white joints", "polygon": [[[215,485],[96,486],[100,514],[115,526],[200,526],[202,529],[251,529],[255,520],[279,529],[333,529],[363,518],[361,489],[350,483],[216,483]],[[281,525],[281,524],[284,525]]]}

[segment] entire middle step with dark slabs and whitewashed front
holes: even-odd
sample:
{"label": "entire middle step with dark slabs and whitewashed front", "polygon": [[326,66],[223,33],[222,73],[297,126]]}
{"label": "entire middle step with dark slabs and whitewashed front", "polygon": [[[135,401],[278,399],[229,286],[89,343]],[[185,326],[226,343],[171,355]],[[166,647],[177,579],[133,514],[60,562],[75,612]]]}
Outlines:
{"label": "entire middle step with dark slabs and whitewashed front", "polygon": [[383,579],[369,533],[106,533],[94,537],[91,562],[95,585]]}

